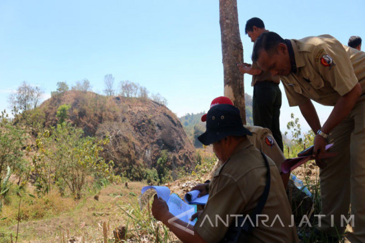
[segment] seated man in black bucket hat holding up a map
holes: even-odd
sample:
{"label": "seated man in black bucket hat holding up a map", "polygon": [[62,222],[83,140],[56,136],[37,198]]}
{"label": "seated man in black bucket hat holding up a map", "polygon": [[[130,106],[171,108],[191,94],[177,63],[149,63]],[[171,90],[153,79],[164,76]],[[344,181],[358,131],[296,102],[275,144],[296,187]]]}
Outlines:
{"label": "seated man in black bucket hat holding up a map", "polygon": [[[241,237],[235,242],[243,242],[243,238],[247,242],[299,242],[276,165],[247,140],[251,132],[242,125],[239,110],[233,105],[215,105],[206,119],[207,129],[198,139],[204,145],[212,144],[214,153],[224,163],[214,174],[203,212],[194,227],[176,221],[183,226],[177,227],[170,223],[173,215],[165,201],[155,196],[154,217],[183,242],[224,242],[235,237],[231,232],[238,231]],[[254,222],[250,224],[254,227],[245,223],[247,227],[241,228],[237,222],[242,222],[243,217],[249,217],[245,222]]]}

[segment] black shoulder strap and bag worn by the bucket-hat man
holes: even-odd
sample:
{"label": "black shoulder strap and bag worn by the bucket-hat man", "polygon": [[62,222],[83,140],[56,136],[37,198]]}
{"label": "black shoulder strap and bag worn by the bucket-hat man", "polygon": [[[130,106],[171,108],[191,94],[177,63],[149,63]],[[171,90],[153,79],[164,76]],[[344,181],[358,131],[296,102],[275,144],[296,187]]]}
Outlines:
{"label": "black shoulder strap and bag worn by the bucket-hat man", "polygon": [[231,224],[230,228],[228,229],[226,235],[224,235],[224,238],[220,241],[221,243],[236,243],[238,242],[239,239],[245,239],[248,240],[251,236],[253,227],[256,226],[256,215],[261,214],[262,209],[264,209],[264,206],[266,204],[266,201],[268,199],[269,196],[269,192],[270,192],[270,184],[271,184],[271,180],[270,180],[270,165],[269,165],[269,161],[267,160],[266,156],[264,153],[262,153],[262,151],[260,151],[262,154],[262,157],[264,157],[264,161],[265,161],[265,165],[266,168],[268,169],[268,172],[266,174],[266,185],[264,188],[264,192],[261,194],[260,199],[257,203],[256,208],[254,209],[254,211],[250,214],[250,219],[252,220],[252,223],[248,220],[246,220],[245,224],[243,224],[243,226],[241,227],[243,220],[245,220],[246,215],[245,216],[241,216],[238,217],[237,219],[237,227],[235,225],[235,223]]}

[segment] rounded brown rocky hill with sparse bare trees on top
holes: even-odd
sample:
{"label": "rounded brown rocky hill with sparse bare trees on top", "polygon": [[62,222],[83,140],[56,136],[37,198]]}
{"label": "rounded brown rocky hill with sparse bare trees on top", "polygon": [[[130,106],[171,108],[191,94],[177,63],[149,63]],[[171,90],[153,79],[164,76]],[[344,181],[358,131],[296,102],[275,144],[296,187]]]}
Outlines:
{"label": "rounded brown rocky hill with sparse bare trees on top", "polygon": [[41,105],[45,126],[57,124],[57,109],[64,104],[71,106],[68,121],[85,135],[110,138],[104,154],[114,161],[119,174],[138,180],[167,170],[174,178],[178,168],[194,166],[195,149],[176,115],[164,105],[149,99],[66,91]]}

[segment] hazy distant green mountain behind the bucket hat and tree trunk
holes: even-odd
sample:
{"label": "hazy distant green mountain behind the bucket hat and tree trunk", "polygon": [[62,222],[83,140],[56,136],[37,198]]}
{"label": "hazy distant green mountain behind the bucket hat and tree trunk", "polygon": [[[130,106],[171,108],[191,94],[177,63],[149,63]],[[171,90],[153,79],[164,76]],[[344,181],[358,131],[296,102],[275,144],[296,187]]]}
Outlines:
{"label": "hazy distant green mountain behind the bucket hat and tree trunk", "polygon": [[[245,94],[245,102],[246,102],[246,123],[247,125],[253,125],[252,118],[252,97],[249,94]],[[185,130],[185,133],[188,135],[188,138],[192,141],[195,148],[201,148],[203,145],[197,137],[205,131],[205,122],[201,122],[201,116],[205,114],[205,111],[194,114],[186,114],[183,117],[180,117],[179,120],[181,125]]]}

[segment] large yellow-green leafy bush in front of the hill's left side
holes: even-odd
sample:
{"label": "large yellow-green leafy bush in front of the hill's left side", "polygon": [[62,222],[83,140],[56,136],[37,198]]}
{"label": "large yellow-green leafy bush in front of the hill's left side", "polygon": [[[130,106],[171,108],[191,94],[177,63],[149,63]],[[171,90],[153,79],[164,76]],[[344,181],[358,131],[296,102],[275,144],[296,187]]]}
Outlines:
{"label": "large yellow-green leafy bush in front of the hill's left side", "polygon": [[67,187],[80,199],[89,176],[94,180],[114,179],[113,162],[100,156],[108,138],[96,141],[82,135],[81,129],[64,122],[38,137],[33,164],[39,193],[49,192],[50,185],[57,182],[61,193]]}

